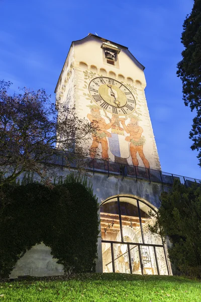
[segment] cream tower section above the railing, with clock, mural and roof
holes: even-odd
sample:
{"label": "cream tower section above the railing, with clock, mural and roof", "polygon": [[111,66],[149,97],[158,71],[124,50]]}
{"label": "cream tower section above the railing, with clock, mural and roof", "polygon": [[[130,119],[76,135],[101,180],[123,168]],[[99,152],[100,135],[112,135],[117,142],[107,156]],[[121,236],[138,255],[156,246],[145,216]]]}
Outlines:
{"label": "cream tower section above the railing, with clock, mural and roof", "polygon": [[[96,124],[91,159],[161,170],[144,89],[144,66],[127,47],[93,34],[73,41],[55,92]],[[59,147],[59,145],[57,146]]]}

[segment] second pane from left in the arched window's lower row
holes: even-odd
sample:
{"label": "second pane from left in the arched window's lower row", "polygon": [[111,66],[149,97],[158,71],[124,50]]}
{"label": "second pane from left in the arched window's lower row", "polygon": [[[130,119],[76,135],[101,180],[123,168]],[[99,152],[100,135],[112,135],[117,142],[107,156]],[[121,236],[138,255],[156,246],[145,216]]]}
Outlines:
{"label": "second pane from left in the arched window's lower row", "polygon": [[128,246],[126,244],[113,244],[115,272],[130,274]]}

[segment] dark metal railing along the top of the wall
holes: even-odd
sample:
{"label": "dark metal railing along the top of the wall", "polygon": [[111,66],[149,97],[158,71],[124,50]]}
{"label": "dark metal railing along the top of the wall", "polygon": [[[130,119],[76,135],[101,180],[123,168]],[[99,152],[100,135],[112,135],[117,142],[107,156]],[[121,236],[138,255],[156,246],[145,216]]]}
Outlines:
{"label": "dark metal railing along the top of the wall", "polygon": [[[147,180],[149,183],[157,182],[162,184],[172,185],[174,179],[178,179],[181,184],[190,187],[192,183],[201,184],[201,180],[180,176],[176,174],[161,172],[158,170],[147,169],[144,167],[131,166],[125,164],[114,163],[110,161],[97,160],[97,159],[69,159],[67,153],[55,150],[54,154],[49,158],[48,163],[59,165],[62,167],[70,167],[74,169],[85,169],[93,174],[95,172],[105,173],[110,175],[120,175],[124,177],[132,177],[137,180]],[[47,161],[46,161],[47,163]]]}

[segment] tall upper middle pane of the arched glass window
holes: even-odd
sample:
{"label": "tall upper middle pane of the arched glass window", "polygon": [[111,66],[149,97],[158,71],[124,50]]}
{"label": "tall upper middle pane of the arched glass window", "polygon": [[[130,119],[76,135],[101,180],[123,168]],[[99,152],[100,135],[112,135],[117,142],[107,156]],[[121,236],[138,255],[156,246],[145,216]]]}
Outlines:
{"label": "tall upper middle pane of the arched glass window", "polygon": [[142,243],[137,200],[120,197],[120,208],[124,242]]}

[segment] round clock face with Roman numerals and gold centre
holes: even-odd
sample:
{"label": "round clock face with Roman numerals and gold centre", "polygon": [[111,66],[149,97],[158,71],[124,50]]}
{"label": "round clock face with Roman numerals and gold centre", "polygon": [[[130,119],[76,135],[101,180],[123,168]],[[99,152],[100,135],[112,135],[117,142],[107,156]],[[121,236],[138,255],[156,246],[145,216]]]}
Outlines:
{"label": "round clock face with Roman numerals and gold centre", "polygon": [[97,77],[88,86],[94,102],[103,109],[118,115],[129,115],[136,101],[124,84],[107,77]]}

